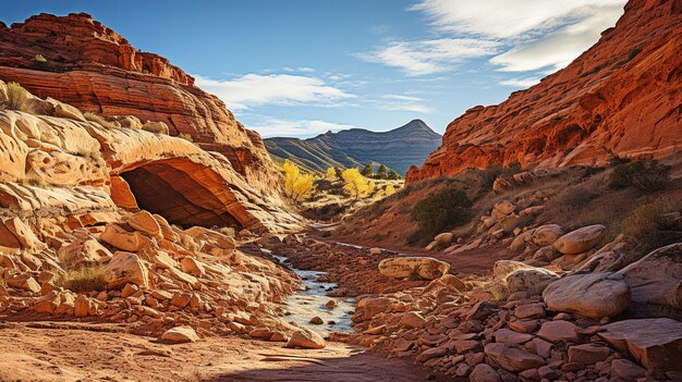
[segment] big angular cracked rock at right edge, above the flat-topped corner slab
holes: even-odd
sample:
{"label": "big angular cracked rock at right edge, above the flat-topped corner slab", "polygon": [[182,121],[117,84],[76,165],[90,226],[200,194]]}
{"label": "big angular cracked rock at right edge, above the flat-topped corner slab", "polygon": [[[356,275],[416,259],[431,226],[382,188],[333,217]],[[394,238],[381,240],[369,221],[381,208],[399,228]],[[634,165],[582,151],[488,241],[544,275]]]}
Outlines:
{"label": "big angular cracked rock at right edge, above the flat-topped corner slab", "polygon": [[635,315],[682,310],[682,243],[658,248],[618,274],[630,285]]}

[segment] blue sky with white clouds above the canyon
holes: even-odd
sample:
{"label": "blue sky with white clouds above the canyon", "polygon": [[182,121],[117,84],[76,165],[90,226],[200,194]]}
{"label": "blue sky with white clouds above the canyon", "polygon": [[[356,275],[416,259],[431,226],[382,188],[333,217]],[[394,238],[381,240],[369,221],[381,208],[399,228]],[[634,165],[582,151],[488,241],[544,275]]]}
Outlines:
{"label": "blue sky with white clouds above the canyon", "polygon": [[264,136],[443,133],[565,66],[625,0],[14,1],[2,20],[87,12],[159,53]]}

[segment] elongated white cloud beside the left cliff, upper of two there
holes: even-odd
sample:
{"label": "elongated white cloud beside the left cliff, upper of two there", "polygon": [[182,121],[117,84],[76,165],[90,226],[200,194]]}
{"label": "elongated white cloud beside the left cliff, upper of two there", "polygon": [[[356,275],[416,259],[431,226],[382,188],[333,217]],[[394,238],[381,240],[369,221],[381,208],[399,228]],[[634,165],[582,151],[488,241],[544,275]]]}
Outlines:
{"label": "elongated white cloud beside the left cliff, upper of two there", "polygon": [[290,74],[246,74],[232,79],[211,79],[195,75],[196,86],[218,96],[228,109],[240,110],[264,104],[331,106],[355,98],[324,79]]}

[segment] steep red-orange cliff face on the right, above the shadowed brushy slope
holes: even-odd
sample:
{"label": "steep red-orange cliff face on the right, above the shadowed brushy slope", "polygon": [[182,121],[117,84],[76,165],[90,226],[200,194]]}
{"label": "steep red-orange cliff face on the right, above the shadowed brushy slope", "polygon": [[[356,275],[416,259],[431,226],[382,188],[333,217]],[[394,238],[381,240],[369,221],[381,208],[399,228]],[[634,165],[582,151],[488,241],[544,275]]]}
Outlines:
{"label": "steep red-orange cliff face on the right, above the shadowed brushy slope", "polygon": [[407,181],[465,168],[595,164],[682,146],[682,3],[631,0],[616,27],[565,69],[448,125]]}

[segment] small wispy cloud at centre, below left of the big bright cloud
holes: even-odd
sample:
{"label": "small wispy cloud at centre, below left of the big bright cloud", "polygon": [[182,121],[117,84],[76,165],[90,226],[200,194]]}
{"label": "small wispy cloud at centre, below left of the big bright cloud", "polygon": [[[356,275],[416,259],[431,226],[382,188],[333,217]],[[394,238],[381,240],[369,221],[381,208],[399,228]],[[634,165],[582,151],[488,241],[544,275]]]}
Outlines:
{"label": "small wispy cloud at centre, below left of the big bright cloud", "polygon": [[498,42],[473,38],[440,38],[417,41],[392,41],[374,53],[356,57],[401,69],[410,76],[440,73],[465,59],[497,52]]}

